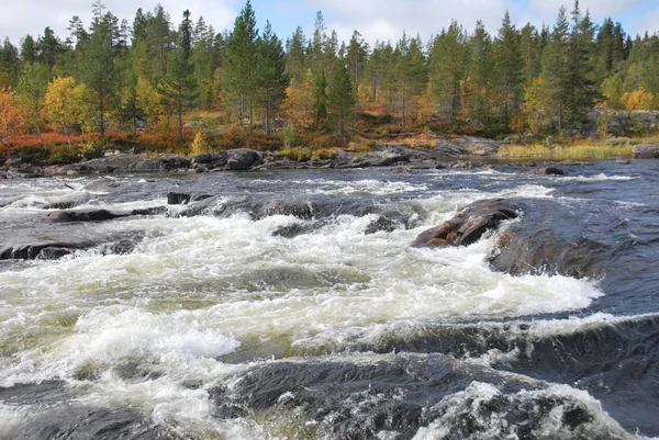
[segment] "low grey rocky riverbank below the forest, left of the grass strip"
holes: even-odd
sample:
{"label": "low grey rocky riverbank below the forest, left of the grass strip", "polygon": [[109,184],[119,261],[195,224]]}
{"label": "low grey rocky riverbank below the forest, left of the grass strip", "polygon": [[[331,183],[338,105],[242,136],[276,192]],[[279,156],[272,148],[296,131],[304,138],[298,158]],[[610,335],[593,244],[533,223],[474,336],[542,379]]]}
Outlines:
{"label": "low grey rocky riverbank below the forest, left of the grass strip", "polygon": [[495,157],[498,144],[479,137],[437,138],[433,148],[412,148],[405,144],[376,144],[371,151],[354,153],[335,149],[332,159],[298,161],[272,151],[236,148],[199,155],[192,158],[172,154],[130,155],[108,153],[104,157],[78,163],[42,165],[10,158],[0,170],[0,179],[49,176],[85,176],[148,172],[216,172],[273,169],[367,168],[405,166],[410,168],[482,167],[473,161]]}

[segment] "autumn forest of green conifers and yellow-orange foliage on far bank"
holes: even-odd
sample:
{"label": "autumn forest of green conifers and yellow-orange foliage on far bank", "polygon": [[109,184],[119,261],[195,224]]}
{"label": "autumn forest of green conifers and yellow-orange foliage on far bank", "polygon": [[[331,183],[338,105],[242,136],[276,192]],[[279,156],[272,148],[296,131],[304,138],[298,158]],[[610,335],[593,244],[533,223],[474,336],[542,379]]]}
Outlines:
{"label": "autumn forest of green conifers and yellow-orange foliage on far bank", "polygon": [[222,32],[188,10],[176,23],[161,5],[132,22],[101,0],[92,13],[87,25],[72,16],[68,35],[3,41],[5,151],[323,148],[426,132],[560,138],[582,135],[593,110],[659,109],[659,35],[594,23],[579,1],[551,26],[517,27],[506,12],[496,34],[453,21],[427,42],[403,33],[372,46],[358,31],[339,41],[321,12],[311,35],[281,38],[267,21],[259,29],[249,1]]}

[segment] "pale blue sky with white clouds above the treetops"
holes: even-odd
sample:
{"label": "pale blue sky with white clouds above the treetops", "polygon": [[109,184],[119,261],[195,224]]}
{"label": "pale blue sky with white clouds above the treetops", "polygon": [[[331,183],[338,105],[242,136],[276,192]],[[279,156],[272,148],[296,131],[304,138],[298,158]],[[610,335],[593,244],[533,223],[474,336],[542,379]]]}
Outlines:
{"label": "pale blue sky with white clouds above the treetops", "polygon": [[[182,10],[189,9],[197,21],[203,15],[215,31],[232,29],[245,0],[104,0],[107,11],[119,19],[133,22],[137,8],[153,10],[159,2],[178,25]],[[88,25],[92,0],[0,0],[0,37],[19,44],[25,34],[38,36],[45,26],[65,38],[66,27],[74,15]],[[468,31],[481,20],[491,34],[496,34],[507,10],[517,26],[526,23],[552,25],[561,4],[572,10],[573,1],[565,0],[252,0],[258,26],[266,20],[275,32],[286,40],[297,26],[310,35],[316,12],[322,11],[326,27],[336,30],[339,40],[349,40],[354,30],[371,45],[376,41],[396,42],[403,31],[417,33],[425,42],[458,21]],[[659,1],[657,0],[581,0],[581,10],[590,11],[595,23],[611,16],[619,21],[628,34],[659,32]]]}

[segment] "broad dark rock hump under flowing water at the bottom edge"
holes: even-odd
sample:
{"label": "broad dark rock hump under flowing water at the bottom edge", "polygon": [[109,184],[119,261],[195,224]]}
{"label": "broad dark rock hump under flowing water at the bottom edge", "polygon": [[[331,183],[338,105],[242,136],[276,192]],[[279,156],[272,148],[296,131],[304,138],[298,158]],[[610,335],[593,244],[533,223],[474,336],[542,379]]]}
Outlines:
{"label": "broad dark rock hump under flowing water at the bottom edge", "polygon": [[436,353],[272,362],[231,390],[215,387],[211,397],[220,418],[259,414],[272,436],[367,439],[395,432],[412,439],[427,429],[427,438],[536,438],[551,415],[555,438],[626,438],[619,427],[602,426],[601,415],[583,402],[543,382],[506,379]]}

